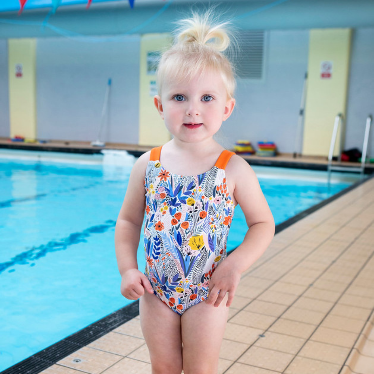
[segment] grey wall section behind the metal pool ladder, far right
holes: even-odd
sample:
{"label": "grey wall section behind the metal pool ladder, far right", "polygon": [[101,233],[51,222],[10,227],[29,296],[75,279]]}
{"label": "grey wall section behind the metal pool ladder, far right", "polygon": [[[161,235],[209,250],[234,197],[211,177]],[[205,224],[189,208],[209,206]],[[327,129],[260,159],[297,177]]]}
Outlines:
{"label": "grey wall section behind the metal pool ladder, far right", "polygon": [[[347,129],[345,148],[362,150],[365,122],[374,116],[374,28],[355,30],[348,88]],[[370,137],[374,157],[374,123]]]}

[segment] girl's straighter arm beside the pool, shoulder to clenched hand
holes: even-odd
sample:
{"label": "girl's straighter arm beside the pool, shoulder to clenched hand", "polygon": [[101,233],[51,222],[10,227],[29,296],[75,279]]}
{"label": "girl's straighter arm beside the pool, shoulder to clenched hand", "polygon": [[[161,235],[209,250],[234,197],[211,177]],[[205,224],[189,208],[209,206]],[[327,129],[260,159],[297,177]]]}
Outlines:
{"label": "girl's straighter arm beside the pool, shoulder to clenched hand", "polygon": [[144,177],[150,152],[142,154],[135,162],[119,212],[114,241],[118,269],[122,277],[121,293],[130,300],[137,300],[144,290],[153,293],[148,278],[138,270],[137,249],[144,219]]}

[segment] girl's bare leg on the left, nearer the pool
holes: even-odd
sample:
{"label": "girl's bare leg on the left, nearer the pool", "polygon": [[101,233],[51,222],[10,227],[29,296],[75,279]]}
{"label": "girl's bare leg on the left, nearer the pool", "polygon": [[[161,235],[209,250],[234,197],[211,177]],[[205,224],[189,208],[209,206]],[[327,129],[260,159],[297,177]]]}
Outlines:
{"label": "girl's bare leg on the left, nearer the pool", "polygon": [[181,374],[181,317],[156,295],[140,298],[140,324],[147,343],[152,374]]}

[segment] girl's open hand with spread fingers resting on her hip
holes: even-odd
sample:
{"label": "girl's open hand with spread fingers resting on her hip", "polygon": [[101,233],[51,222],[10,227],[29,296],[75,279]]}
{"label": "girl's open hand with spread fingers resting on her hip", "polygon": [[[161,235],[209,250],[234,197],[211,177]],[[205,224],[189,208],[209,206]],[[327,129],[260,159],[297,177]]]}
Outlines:
{"label": "girl's open hand with spread fingers resting on her hip", "polygon": [[218,307],[221,301],[229,292],[226,306],[229,307],[234,299],[237,285],[240,281],[240,272],[237,271],[229,258],[222,261],[215,269],[209,282],[209,296],[206,299],[207,304],[214,304]]}

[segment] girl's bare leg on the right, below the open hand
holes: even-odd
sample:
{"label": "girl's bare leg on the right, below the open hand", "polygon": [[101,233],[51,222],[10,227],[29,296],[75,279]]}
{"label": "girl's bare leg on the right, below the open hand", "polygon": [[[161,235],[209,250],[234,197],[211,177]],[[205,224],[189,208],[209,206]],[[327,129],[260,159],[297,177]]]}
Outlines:
{"label": "girl's bare leg on the right, below the open hand", "polygon": [[203,301],[183,313],[181,322],[185,374],[217,374],[218,356],[229,316],[226,301],[227,297],[217,308]]}

